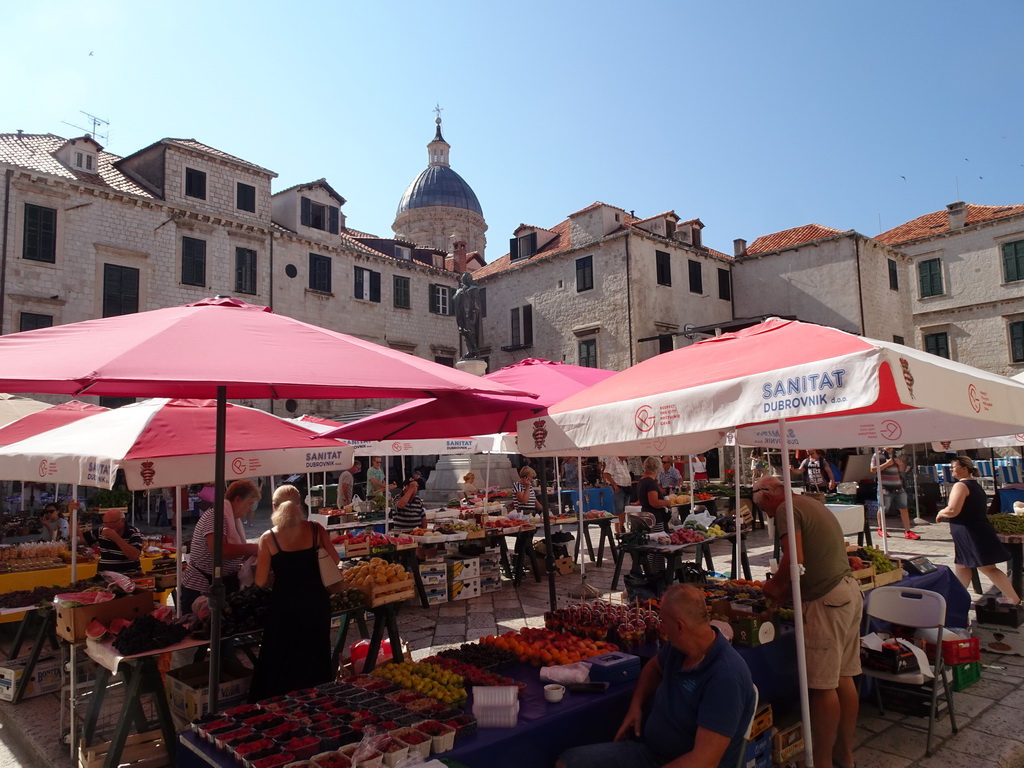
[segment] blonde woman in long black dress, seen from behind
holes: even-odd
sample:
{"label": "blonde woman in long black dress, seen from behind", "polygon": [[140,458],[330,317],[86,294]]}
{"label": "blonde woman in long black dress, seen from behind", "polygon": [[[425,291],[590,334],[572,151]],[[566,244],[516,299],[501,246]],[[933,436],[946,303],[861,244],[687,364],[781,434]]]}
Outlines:
{"label": "blonde woman in long black dress, seen from behind", "polygon": [[249,700],[259,701],[333,678],[331,598],[319,573],[319,550],[338,563],[323,525],[308,522],[294,501],[271,513],[259,540],[256,586],[272,586]]}

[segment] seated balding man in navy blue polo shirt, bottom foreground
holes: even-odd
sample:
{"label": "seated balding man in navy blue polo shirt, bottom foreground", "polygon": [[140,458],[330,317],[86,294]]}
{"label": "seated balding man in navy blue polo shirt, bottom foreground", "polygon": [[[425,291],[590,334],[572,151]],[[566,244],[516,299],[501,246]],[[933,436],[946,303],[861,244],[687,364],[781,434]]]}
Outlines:
{"label": "seated balding man in navy blue polo shirt, bottom foreground", "polygon": [[754,715],[750,670],[711,625],[703,594],[691,585],[666,591],[662,626],[669,643],[640,673],[615,741],[568,750],[557,768],[656,768],[681,758],[736,765]]}

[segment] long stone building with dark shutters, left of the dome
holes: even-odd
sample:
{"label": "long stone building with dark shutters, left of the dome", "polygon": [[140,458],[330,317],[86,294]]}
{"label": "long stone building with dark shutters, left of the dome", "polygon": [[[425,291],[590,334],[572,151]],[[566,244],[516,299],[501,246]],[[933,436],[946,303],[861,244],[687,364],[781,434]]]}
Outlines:
{"label": "long stone building with dark shutters, left of the dome", "polygon": [[0,134],[0,333],[230,294],[428,359],[458,349],[445,254],[350,229],[323,179],[271,194],[275,173],[195,139],[121,158],[22,132]]}

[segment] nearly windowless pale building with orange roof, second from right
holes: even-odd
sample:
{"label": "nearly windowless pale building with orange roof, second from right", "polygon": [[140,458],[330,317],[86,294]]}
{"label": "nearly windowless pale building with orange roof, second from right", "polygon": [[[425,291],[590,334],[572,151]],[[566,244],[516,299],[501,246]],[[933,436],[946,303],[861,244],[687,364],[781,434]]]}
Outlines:
{"label": "nearly windowless pale building with orange roof, second from right", "polygon": [[908,259],[852,229],[807,224],[734,243],[735,305],[913,344]]}

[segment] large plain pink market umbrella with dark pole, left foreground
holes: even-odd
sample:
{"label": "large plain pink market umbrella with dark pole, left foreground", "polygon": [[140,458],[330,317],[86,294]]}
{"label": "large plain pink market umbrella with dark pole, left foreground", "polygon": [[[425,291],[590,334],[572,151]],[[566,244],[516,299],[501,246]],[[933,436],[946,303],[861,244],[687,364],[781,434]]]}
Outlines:
{"label": "large plain pink market umbrella with dark pole, left foreground", "polygon": [[[530,394],[328,331],[267,307],[218,297],[0,337],[0,391],[217,399],[223,457],[228,397],[423,397],[458,390]],[[223,461],[216,461],[217,508]],[[223,520],[215,516],[211,642],[220,640]],[[211,654],[211,709],[219,655]]]}

